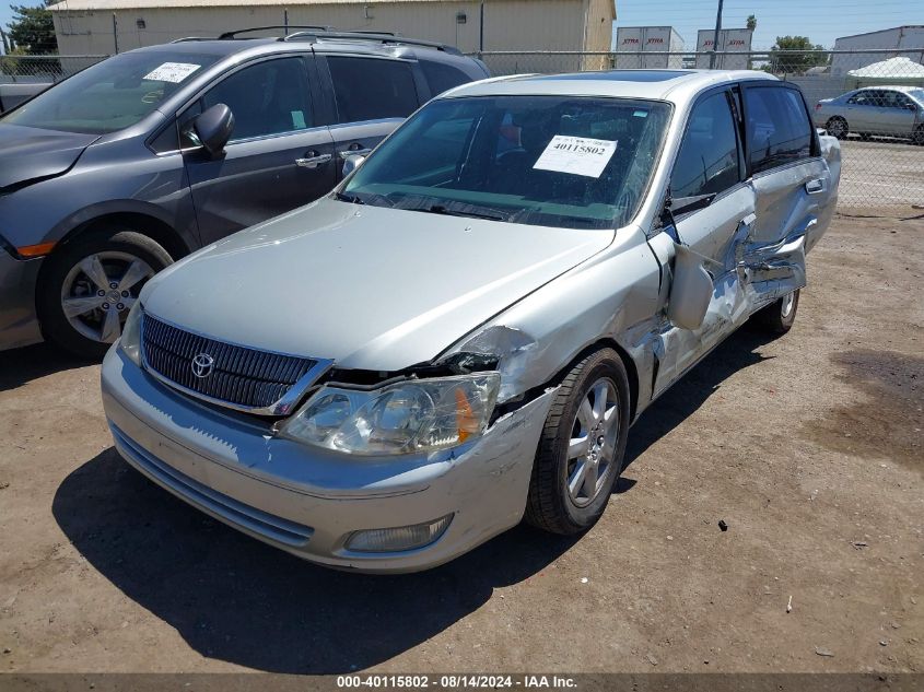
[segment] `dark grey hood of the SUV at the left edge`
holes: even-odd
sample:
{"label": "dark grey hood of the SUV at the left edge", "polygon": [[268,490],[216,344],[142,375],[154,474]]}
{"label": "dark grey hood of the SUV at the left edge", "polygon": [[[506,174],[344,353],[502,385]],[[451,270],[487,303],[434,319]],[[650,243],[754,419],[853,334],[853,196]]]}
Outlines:
{"label": "dark grey hood of the SUV at the left edge", "polygon": [[0,122],[0,191],[67,173],[98,138]]}

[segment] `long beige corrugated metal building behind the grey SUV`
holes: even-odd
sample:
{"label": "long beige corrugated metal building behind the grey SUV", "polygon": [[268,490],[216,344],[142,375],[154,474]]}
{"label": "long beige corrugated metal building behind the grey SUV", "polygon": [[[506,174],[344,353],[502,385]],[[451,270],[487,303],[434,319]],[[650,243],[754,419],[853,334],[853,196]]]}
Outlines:
{"label": "long beige corrugated metal building behind the grey SUV", "polygon": [[62,55],[105,55],[286,19],[290,26],[395,32],[466,52],[603,51],[616,19],[615,0],[62,0],[50,10]]}

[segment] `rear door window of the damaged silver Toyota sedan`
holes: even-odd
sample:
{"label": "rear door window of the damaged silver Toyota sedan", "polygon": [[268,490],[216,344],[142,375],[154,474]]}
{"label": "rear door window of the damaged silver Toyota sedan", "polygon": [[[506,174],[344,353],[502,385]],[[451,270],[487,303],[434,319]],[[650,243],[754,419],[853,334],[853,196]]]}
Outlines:
{"label": "rear door window of the damaged silver Toyota sedan", "polygon": [[751,171],[759,173],[811,154],[811,124],[802,96],[784,86],[745,90]]}

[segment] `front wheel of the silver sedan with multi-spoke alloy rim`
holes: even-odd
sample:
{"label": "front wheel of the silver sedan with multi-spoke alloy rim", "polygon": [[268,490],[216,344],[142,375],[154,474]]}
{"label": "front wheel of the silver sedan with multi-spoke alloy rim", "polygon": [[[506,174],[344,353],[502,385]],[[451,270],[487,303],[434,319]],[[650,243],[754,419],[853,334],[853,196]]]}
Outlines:
{"label": "front wheel of the silver sedan with multi-spoke alloy rim", "polygon": [[[607,387],[606,396],[599,396],[601,387]],[[582,408],[585,400],[589,411]],[[605,406],[595,406],[604,400]],[[596,415],[597,408],[603,415]],[[609,417],[607,411],[610,411]],[[598,423],[600,427],[594,429]],[[622,472],[628,434],[625,366],[615,351],[596,351],[568,373],[552,401],[533,465],[526,521],[563,536],[580,533],[594,526]],[[584,454],[575,457],[573,450],[580,446],[578,439],[586,439],[586,443]],[[582,464],[583,476],[578,468]],[[588,480],[590,473],[596,482]],[[569,480],[575,481],[576,491],[570,488]],[[593,492],[589,492],[590,486]]]}

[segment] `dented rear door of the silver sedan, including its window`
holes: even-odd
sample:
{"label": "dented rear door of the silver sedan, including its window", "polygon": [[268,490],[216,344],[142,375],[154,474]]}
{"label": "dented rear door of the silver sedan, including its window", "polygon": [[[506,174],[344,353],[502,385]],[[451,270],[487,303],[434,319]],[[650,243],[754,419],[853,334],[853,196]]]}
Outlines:
{"label": "dented rear door of the silver sedan, including its window", "polygon": [[805,255],[830,221],[837,179],[798,89],[756,82],[742,91],[757,209],[740,269],[758,309],[806,285]]}

